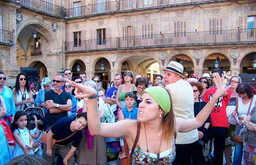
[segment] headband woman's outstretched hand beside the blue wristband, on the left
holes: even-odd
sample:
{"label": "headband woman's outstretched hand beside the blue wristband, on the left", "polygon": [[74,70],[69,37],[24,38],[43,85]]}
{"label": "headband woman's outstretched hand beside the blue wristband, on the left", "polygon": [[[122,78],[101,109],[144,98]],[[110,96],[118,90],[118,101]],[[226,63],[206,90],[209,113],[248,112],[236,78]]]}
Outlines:
{"label": "headband woman's outstretched hand beside the blue wristband, on the left", "polygon": [[[75,98],[85,98],[97,95],[97,91],[89,86],[78,84],[74,81],[70,81],[69,79],[65,78],[65,81],[70,83],[72,86],[76,87],[74,93],[76,94]],[[79,93],[83,93],[82,95]]]}

